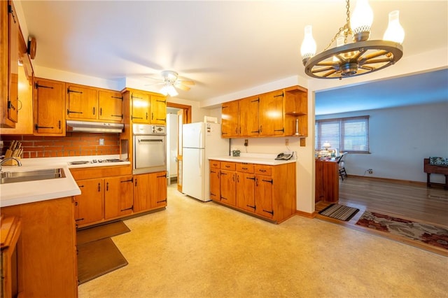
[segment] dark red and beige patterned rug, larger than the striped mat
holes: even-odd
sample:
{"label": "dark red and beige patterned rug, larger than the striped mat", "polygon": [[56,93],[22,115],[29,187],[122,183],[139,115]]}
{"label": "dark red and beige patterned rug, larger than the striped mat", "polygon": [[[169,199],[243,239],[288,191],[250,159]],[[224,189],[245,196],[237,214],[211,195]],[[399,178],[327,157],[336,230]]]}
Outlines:
{"label": "dark red and beige patterned rug, larger than the striped mat", "polygon": [[421,241],[448,250],[448,229],[365,211],[356,225]]}

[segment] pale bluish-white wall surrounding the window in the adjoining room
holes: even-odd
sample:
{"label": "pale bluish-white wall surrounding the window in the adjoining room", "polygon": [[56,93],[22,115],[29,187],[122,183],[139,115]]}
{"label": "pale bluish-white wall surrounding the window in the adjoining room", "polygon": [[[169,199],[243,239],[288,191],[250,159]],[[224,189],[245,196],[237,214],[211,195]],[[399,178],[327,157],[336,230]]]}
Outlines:
{"label": "pale bluish-white wall surrounding the window in the adjoining room", "polygon": [[[423,158],[448,157],[448,99],[440,104],[316,116],[316,120],[370,115],[370,153],[349,153],[349,175],[426,182]],[[373,169],[369,174],[365,171]],[[431,182],[444,176],[431,174]]]}

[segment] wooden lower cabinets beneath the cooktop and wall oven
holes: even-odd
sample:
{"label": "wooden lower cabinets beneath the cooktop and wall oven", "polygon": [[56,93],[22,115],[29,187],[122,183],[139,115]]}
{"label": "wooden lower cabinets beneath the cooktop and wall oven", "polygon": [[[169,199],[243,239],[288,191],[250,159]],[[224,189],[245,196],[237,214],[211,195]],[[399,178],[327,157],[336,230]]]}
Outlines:
{"label": "wooden lower cabinets beneath the cooktop and wall oven", "polygon": [[81,194],[75,196],[79,228],[167,206],[167,172],[132,175],[129,166],[71,169]]}

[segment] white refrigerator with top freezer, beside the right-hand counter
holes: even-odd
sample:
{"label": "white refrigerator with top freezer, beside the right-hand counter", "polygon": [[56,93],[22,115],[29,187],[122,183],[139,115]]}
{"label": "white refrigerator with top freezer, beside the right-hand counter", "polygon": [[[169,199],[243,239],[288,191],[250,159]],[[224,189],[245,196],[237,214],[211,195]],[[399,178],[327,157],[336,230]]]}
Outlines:
{"label": "white refrigerator with top freezer, beside the right-hand counter", "polygon": [[229,139],[221,138],[221,124],[197,122],[182,129],[182,192],[210,201],[209,157],[228,156]]}

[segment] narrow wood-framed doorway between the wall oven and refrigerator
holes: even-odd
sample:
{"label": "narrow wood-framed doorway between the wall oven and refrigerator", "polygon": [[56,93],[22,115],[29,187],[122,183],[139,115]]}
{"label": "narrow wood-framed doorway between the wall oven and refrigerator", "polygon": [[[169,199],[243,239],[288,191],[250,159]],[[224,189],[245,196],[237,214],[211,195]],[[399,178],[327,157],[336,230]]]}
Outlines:
{"label": "narrow wood-framed doorway between the wall oven and refrigerator", "polygon": [[182,192],[182,125],[191,123],[191,106],[167,102],[167,178]]}

